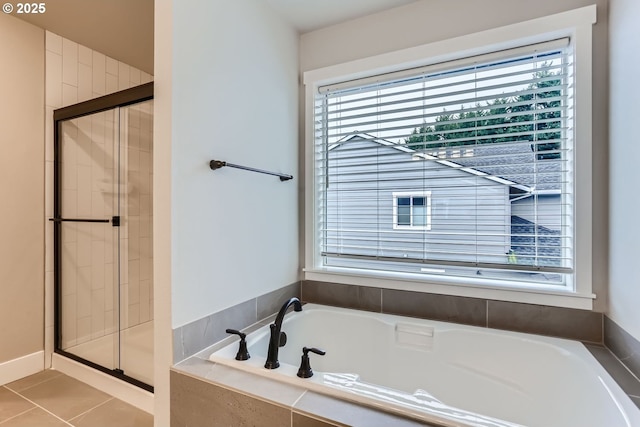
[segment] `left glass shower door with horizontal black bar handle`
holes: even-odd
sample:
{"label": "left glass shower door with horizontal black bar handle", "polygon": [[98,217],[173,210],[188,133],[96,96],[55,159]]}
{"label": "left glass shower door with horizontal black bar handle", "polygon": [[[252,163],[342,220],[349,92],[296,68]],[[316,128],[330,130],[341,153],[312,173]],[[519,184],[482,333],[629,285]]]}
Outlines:
{"label": "left glass shower door with horizontal black bar handle", "polygon": [[119,370],[117,110],[61,123],[60,349]]}

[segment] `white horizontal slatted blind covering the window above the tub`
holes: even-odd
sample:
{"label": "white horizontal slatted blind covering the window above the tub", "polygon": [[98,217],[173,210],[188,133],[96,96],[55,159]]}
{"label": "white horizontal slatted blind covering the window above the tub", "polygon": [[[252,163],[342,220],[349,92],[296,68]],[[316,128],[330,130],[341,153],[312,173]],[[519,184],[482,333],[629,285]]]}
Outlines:
{"label": "white horizontal slatted blind covering the window above the tub", "polygon": [[321,87],[323,264],[565,284],[572,62],[563,39]]}

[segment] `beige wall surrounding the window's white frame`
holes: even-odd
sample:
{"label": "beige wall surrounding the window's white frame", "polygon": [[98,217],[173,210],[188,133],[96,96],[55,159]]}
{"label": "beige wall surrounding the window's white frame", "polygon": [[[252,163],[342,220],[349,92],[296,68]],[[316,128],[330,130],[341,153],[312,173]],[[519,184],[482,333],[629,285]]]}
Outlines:
{"label": "beige wall surrounding the window's white frame", "polygon": [[[461,35],[522,22],[566,10],[596,4],[598,23],[594,26],[593,84],[600,99],[594,105],[593,120],[593,290],[594,310],[607,307],[607,0],[423,0],[331,27],[300,37],[300,71],[366,58],[400,49],[446,40]],[[499,11],[499,13],[497,13]],[[303,120],[300,111],[300,120]],[[300,135],[301,144],[304,136]],[[301,146],[303,151],[304,146]],[[303,158],[301,158],[303,161]],[[301,245],[301,259],[304,259]]]}

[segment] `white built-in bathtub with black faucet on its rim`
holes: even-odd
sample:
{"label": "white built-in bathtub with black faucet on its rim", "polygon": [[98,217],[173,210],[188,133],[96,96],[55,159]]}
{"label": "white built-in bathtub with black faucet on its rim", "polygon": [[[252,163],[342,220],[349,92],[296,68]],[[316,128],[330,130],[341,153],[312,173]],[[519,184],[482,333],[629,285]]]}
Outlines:
{"label": "white built-in bathtub with black faucet on its rim", "polygon": [[[280,367],[269,327],[211,361],[443,426],[637,427],[640,410],[579,342],[307,304],[286,315]],[[314,376],[296,376],[302,347]]]}

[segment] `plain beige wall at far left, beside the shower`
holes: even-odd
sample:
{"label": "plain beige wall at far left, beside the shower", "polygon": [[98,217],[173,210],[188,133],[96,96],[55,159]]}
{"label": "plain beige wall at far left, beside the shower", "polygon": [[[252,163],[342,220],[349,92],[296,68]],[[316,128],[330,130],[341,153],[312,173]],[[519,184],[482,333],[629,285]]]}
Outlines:
{"label": "plain beige wall at far left, beside the shower", "polygon": [[[0,384],[42,368],[44,31],[0,14]],[[14,361],[36,355],[26,372]],[[20,362],[15,362],[19,364]],[[6,374],[6,375],[5,375]]]}

